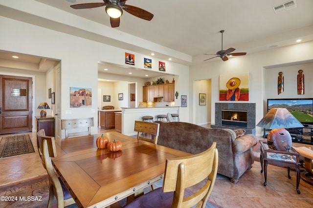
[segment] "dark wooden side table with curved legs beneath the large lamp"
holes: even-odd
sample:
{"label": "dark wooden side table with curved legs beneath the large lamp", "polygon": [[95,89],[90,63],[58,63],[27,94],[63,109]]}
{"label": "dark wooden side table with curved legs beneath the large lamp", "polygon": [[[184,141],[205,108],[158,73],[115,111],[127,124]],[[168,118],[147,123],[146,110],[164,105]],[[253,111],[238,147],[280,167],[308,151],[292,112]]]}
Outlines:
{"label": "dark wooden side table with curved legs beneath the large lamp", "polygon": [[290,168],[294,167],[297,172],[297,185],[296,190],[297,193],[300,194],[299,184],[300,184],[300,154],[291,147],[289,152],[287,151],[278,151],[268,148],[267,142],[259,141],[261,144],[260,150],[260,162],[261,162],[261,173],[264,169],[264,186],[267,185],[267,166],[268,164],[288,167],[288,178],[291,179],[290,176]]}

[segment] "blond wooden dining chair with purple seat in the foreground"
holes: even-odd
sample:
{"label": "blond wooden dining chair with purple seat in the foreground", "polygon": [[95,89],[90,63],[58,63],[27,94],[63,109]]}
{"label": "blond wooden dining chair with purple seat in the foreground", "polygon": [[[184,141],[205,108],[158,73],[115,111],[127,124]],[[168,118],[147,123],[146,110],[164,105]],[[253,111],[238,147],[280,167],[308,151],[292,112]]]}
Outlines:
{"label": "blond wooden dining chair with purple seat in the foreground", "polygon": [[[214,187],[218,159],[216,142],[199,154],[166,159],[163,187],[136,198],[124,208],[205,208]],[[194,185],[197,188],[185,191]]]}

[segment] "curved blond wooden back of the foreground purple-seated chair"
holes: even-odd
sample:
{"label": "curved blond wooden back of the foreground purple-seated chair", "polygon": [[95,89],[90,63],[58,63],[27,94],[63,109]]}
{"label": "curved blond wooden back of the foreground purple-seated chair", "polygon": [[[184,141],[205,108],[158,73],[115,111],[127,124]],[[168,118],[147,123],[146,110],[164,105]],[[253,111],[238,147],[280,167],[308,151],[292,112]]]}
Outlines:
{"label": "curved blond wooden back of the foreground purple-seated chair", "polygon": [[[216,142],[213,142],[209,149],[199,154],[166,160],[163,192],[174,191],[173,208],[191,208],[197,203],[197,208],[205,208],[215,183],[218,159]],[[183,198],[185,188],[205,178],[207,181],[199,191]]]}

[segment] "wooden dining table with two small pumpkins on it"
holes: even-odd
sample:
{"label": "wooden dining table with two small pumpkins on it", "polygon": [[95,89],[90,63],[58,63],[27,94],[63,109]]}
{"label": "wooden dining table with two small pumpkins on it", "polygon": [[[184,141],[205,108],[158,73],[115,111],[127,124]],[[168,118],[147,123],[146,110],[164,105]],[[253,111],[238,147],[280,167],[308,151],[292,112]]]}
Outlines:
{"label": "wooden dining table with two small pumpkins on it", "polygon": [[190,155],[118,132],[104,133],[122,143],[121,150],[111,152],[97,148],[100,136],[56,140],[52,162],[78,207],[108,207],[161,180],[167,158]]}

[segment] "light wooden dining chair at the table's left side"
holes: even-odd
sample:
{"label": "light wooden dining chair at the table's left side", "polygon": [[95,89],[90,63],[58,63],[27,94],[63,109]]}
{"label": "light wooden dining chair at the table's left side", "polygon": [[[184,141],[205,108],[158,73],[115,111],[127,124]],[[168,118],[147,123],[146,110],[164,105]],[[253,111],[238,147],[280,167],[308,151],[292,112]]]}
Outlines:
{"label": "light wooden dining chair at the table's left side", "polygon": [[57,199],[58,208],[75,204],[67,188],[55,173],[51,161],[51,157],[57,156],[54,137],[45,136],[45,129],[40,129],[37,132],[37,147],[41,161],[49,177],[49,199],[47,207],[52,208],[54,197]]}

